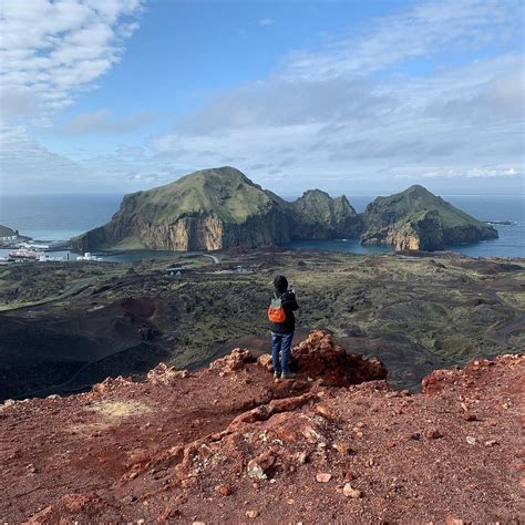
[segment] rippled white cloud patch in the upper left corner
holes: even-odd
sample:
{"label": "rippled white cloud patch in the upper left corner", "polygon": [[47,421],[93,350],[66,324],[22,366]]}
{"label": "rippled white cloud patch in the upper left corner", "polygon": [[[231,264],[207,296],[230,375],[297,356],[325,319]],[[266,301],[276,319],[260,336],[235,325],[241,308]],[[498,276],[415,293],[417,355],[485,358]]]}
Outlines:
{"label": "rippled white cloud patch in the upper left corner", "polygon": [[0,0],[3,120],[39,124],[117,62],[142,0]]}

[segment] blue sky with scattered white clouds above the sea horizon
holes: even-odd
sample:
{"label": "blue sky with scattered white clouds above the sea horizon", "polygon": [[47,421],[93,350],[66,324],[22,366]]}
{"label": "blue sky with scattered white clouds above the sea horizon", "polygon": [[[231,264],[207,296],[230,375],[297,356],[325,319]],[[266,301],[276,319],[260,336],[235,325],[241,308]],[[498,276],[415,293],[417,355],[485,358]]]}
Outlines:
{"label": "blue sky with scattered white clouds above the sea horizon", "polygon": [[230,165],[281,195],[524,194],[521,0],[0,0],[0,194]]}

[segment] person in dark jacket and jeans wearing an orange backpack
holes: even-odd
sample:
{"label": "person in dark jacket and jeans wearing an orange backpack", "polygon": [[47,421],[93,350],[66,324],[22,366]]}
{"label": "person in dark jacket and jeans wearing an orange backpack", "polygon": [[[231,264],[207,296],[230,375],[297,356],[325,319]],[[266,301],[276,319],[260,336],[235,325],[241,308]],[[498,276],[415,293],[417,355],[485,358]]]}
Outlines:
{"label": "person in dark jacket and jeans wearing an orange backpack", "polygon": [[274,279],[274,299],[268,308],[268,319],[271,330],[271,361],[276,379],[291,379],[296,374],[290,372],[289,359],[291,340],[296,329],[295,311],[299,309],[295,290],[288,289],[285,276]]}

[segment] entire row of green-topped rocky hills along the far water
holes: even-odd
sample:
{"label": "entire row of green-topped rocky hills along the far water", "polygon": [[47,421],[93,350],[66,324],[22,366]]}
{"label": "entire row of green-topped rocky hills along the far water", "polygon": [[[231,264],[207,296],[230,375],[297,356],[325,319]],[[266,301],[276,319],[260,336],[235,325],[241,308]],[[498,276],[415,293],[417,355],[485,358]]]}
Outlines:
{"label": "entire row of green-topped rocky hills along the far water", "polygon": [[356,238],[397,249],[440,249],[497,237],[496,230],[423,186],[379,197],[357,214],[347,197],[310,189],[289,203],[234,167],[202,169],[126,195],[104,226],[71,240],[93,249],[216,250],[290,240]]}

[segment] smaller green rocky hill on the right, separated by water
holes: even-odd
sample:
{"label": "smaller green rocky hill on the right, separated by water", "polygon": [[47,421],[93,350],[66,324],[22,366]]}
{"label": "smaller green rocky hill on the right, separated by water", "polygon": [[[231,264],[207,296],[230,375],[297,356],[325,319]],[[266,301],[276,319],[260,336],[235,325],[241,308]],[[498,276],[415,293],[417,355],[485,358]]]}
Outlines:
{"label": "smaller green rocky hill on the right, separated by water", "polygon": [[433,250],[497,238],[492,226],[420,185],[390,197],[378,197],[367,206],[363,220],[363,244],[394,245],[397,249]]}

